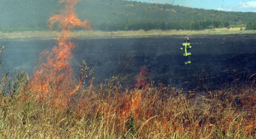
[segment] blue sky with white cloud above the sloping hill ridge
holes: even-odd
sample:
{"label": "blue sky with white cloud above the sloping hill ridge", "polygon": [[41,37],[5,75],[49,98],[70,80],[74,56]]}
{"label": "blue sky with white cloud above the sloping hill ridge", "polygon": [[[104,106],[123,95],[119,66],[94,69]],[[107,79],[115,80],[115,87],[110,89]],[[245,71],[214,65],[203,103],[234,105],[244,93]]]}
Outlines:
{"label": "blue sky with white cloud above the sloping hill ridge", "polygon": [[256,0],[137,0],[222,11],[256,12]]}

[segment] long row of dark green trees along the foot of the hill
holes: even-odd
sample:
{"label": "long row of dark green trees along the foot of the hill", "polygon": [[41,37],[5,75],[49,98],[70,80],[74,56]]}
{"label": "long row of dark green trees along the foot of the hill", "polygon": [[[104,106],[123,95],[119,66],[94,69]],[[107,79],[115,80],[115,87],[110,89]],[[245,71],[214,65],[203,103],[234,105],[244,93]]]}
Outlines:
{"label": "long row of dark green trees along the foot of the hill", "polygon": [[118,31],[118,30],[202,30],[210,28],[229,27],[226,20],[193,20],[193,21],[142,21],[142,22],[126,22],[126,23],[99,23],[94,24],[94,29],[102,31]]}

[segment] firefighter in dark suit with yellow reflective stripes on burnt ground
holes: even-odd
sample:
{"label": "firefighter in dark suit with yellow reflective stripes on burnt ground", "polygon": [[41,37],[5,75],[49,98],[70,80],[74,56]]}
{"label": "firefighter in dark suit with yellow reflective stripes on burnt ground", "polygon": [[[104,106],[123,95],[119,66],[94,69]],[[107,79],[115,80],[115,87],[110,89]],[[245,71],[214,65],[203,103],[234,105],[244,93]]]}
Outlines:
{"label": "firefighter in dark suit with yellow reflective stripes on burnt ground", "polygon": [[191,53],[188,53],[187,50],[191,49],[192,46],[190,45],[189,37],[184,37],[184,43],[182,43],[182,47],[180,48],[182,51],[184,50],[183,56],[186,57],[185,65],[191,63]]}

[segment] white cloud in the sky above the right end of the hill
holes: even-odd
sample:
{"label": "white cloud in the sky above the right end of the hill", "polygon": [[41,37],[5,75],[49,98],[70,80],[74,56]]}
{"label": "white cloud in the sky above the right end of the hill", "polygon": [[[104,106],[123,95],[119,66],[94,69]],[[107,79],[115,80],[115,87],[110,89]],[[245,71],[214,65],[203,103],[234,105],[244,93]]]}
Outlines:
{"label": "white cloud in the sky above the right end of the hill", "polygon": [[219,11],[243,11],[243,12],[256,12],[256,1],[240,1],[236,5],[229,5],[218,7]]}

